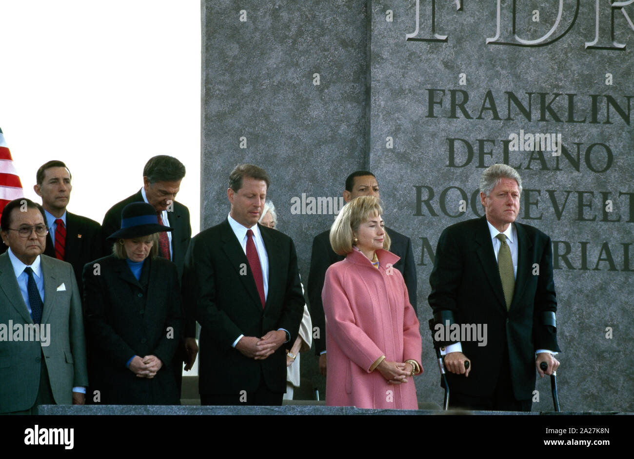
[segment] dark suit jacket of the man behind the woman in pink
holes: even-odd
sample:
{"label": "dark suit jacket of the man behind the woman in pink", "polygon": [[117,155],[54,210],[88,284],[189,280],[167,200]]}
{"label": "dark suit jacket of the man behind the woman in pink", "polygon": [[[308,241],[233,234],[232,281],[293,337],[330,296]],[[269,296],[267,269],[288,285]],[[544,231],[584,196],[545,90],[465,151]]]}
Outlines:
{"label": "dark suit jacket of the man behind the woman in pink", "polygon": [[[410,297],[411,306],[418,315],[418,309],[416,307],[416,263],[411,250],[410,238],[391,228],[385,228],[385,231],[387,231],[387,234],[389,234],[392,240],[390,252],[401,257],[401,259],[394,264],[394,268],[401,271]],[[321,290],[323,290],[326,270],[331,264],[342,261],[344,258],[346,257],[337,255],[335,251],[332,250],[332,246],[330,245],[330,229],[315,236],[313,240],[313,253],[311,254],[311,268],[308,273],[308,301],[311,307],[313,328],[319,327],[320,330],[319,337],[313,338],[317,355],[326,350],[326,318],[323,313],[323,302],[321,301]]]}

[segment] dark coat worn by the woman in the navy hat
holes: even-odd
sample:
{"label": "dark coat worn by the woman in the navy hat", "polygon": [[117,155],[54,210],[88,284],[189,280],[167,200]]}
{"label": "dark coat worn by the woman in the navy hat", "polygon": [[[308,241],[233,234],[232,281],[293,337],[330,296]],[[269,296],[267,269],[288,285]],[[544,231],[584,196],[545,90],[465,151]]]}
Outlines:
{"label": "dark coat worn by the woman in the navy hat", "polygon": [[[179,404],[171,369],[183,319],[176,266],[148,258],[136,280],[114,255],[93,264],[84,269],[91,394],[100,391],[101,404]],[[154,378],[139,378],[126,367],[134,355],[155,355],[163,366]]]}

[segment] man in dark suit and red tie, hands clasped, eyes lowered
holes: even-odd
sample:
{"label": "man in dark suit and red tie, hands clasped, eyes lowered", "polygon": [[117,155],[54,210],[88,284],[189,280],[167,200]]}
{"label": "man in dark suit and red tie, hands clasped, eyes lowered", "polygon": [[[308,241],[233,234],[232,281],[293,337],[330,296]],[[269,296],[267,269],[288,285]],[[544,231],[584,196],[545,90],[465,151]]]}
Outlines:
{"label": "man in dark suit and red tie, hands clasped, eyes lowered", "polygon": [[186,307],[200,323],[202,404],[280,405],[286,351],[304,297],[291,238],[257,224],[266,172],[241,164],[229,177],[231,212],[191,240],[183,274]]}

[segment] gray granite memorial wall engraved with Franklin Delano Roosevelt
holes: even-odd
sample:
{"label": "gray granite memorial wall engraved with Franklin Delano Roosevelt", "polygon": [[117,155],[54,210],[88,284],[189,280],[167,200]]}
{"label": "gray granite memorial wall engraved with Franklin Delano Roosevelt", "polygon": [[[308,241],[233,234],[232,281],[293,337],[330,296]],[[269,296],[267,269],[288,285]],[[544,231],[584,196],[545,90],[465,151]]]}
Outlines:
{"label": "gray granite memorial wall engraved with Franklin Delano Roosevelt", "polygon": [[[425,373],[441,231],[479,217],[478,180],[512,165],[519,222],[553,240],[562,410],[634,411],[634,0],[203,1],[202,228],[240,162],[269,172],[306,283],[346,176],[373,171],[417,259]],[[323,396],[314,358],[302,375]],[[548,378],[533,411],[552,409]]]}

